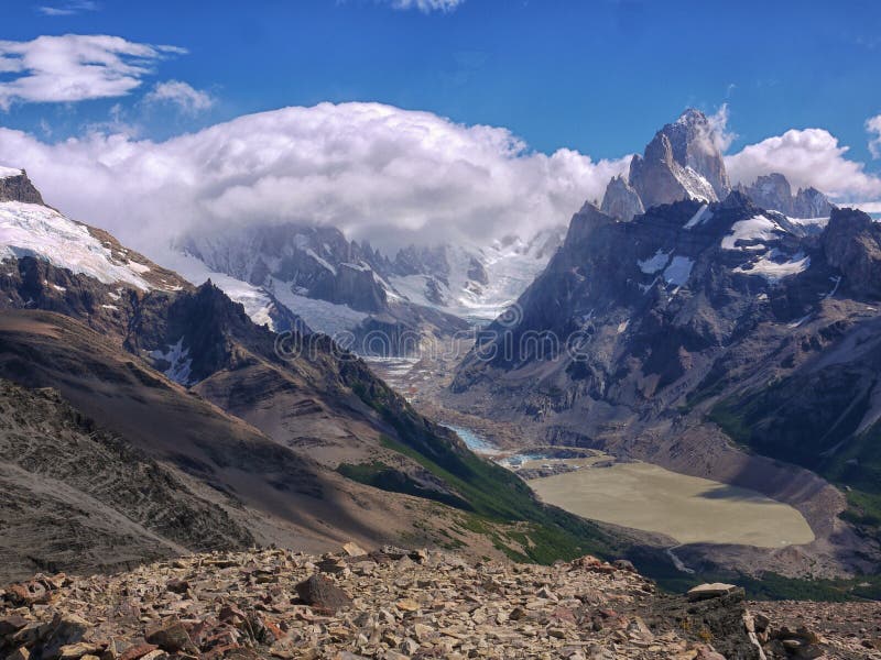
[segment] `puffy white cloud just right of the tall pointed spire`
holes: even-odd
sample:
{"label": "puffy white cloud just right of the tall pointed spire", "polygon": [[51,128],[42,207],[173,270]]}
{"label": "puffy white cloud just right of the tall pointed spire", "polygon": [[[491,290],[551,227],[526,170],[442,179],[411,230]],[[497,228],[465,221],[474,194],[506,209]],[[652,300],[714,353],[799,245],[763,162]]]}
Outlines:
{"label": "puffy white cloud just right of the tall pointed spire", "polygon": [[735,183],[751,184],[759,175],[780,172],[793,187],[814,186],[840,201],[881,197],[881,178],[846,157],[848,146],[824,129],[790,130],[726,156]]}

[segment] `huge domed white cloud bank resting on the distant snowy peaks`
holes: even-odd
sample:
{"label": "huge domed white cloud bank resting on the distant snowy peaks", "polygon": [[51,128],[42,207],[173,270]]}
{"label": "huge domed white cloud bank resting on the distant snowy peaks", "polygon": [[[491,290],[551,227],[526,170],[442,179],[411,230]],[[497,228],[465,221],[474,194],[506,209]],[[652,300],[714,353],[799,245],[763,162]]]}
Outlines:
{"label": "huge domed white cloud bank resting on the distant snowy peaks", "polygon": [[0,129],[0,162],[50,204],[146,251],[228,223],[331,224],[393,249],[485,241],[568,221],[629,157],[534,153],[508,130],[379,103],[238,118],[156,143],[91,133],[56,144]]}

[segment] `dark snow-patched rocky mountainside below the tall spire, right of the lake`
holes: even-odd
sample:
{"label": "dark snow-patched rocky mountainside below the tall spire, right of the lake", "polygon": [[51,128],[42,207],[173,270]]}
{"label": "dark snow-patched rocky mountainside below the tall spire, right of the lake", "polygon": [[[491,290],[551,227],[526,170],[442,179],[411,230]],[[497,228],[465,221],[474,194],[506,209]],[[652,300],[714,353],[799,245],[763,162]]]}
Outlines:
{"label": "dark snow-patched rocky mountainside below the tall spire, right of the lake", "polygon": [[[655,142],[672,154],[667,129]],[[586,205],[514,312],[464,361],[448,404],[509,420],[515,410],[547,442],[793,504],[819,540],[772,552],[765,566],[875,571],[875,224],[833,209],[824,229],[738,191],[648,206],[624,221]],[[781,460],[849,487],[847,497]],[[838,518],[848,507],[857,528]],[[722,563],[738,553],[759,565],[748,549]]]}

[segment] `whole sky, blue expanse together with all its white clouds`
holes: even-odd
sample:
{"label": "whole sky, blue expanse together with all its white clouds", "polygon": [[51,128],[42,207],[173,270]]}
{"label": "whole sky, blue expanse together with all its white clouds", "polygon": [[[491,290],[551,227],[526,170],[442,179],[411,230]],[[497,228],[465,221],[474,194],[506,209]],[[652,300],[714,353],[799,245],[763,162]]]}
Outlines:
{"label": "whole sky, blue expanse together with all its white clouds", "polygon": [[0,165],[144,248],[268,218],[532,235],[685,108],[735,183],[881,211],[881,3],[37,0],[0,31]]}

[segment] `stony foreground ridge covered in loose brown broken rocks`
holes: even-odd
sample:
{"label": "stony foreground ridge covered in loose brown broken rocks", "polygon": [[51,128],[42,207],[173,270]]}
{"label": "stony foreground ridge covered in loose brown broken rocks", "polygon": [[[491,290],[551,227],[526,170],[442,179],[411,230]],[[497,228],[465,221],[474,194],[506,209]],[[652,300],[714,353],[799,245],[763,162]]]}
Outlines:
{"label": "stony foreground ridge covered in loose brown broken rocks", "polygon": [[[881,658],[877,603],[747,605],[730,585],[660,594],[626,561],[468,563],[349,543],[322,557],[271,549],[36,575],[0,590],[0,657]],[[812,607],[829,609],[808,628]]]}

